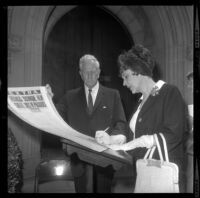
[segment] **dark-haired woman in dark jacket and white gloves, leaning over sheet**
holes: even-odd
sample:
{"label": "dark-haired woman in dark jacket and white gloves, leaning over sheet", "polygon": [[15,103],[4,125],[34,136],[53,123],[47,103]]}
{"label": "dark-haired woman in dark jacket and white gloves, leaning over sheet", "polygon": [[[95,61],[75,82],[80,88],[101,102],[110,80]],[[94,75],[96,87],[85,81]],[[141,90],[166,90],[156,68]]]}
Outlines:
{"label": "dark-haired woman in dark jacket and white gloves, leaning over sheet", "polygon": [[[132,47],[118,57],[123,85],[141,93],[138,107],[129,122],[133,140],[122,145],[111,145],[114,150],[130,151],[135,160],[143,158],[147,148],[155,145],[153,134],[163,133],[169,160],[179,166],[180,190],[183,192],[183,134],[185,132],[185,103],[174,85],[155,82],[152,71],[155,60],[150,51],[141,45]],[[159,142],[162,144],[160,136]],[[155,153],[158,158],[158,153]]]}

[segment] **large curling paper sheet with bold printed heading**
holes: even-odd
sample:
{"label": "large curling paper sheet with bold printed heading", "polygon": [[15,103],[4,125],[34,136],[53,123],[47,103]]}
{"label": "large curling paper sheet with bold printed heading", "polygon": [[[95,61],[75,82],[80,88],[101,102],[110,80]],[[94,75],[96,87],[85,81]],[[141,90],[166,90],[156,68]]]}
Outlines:
{"label": "large curling paper sheet with bold printed heading", "polygon": [[102,152],[107,147],[69,126],[57,112],[46,87],[8,88],[8,108],[20,119],[47,133]]}

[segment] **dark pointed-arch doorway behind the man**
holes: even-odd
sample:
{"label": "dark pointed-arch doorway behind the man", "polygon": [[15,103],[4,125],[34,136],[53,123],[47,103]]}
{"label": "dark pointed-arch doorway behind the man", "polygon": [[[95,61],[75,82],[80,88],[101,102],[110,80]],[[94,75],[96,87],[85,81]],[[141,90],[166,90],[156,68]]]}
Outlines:
{"label": "dark pointed-arch doorway behind the man", "polygon": [[[53,27],[44,48],[43,84],[49,83],[54,102],[82,83],[79,59],[93,54],[100,62],[101,84],[120,91],[127,119],[136,97],[123,87],[117,57],[134,44],[123,24],[109,11],[98,6],[78,6],[66,13]],[[45,134],[46,136],[46,134]],[[49,135],[50,137],[50,135]],[[43,143],[55,138],[43,138]],[[56,144],[56,143],[55,143]]]}

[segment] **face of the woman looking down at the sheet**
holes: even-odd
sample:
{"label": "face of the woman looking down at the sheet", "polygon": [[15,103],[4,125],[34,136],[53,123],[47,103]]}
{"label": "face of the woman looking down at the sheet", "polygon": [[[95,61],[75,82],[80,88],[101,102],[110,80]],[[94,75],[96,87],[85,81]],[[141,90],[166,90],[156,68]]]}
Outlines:
{"label": "face of the woman looking down at the sheet", "polygon": [[123,78],[123,85],[129,88],[133,94],[140,92],[139,91],[140,75],[136,75],[132,70],[127,69],[123,71],[122,78]]}

